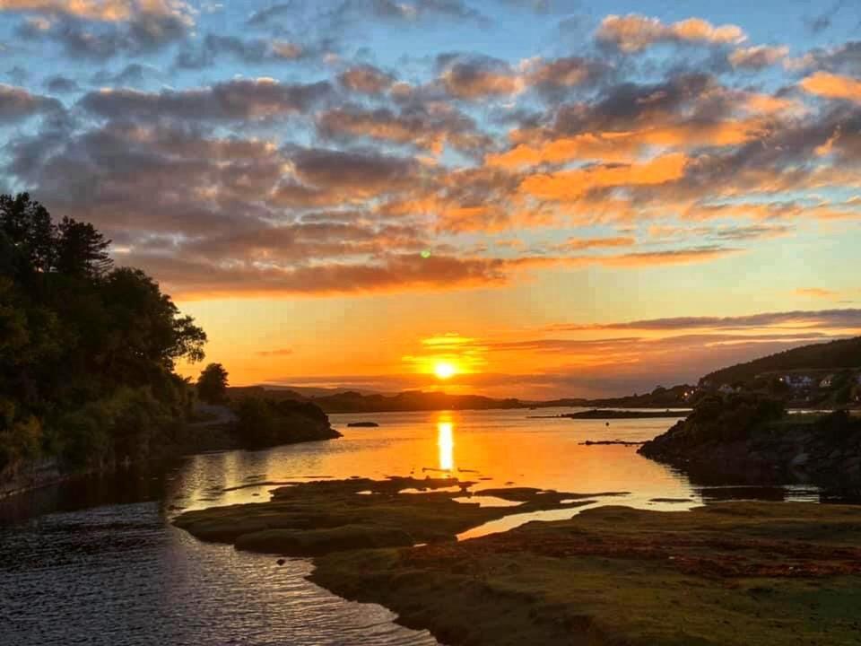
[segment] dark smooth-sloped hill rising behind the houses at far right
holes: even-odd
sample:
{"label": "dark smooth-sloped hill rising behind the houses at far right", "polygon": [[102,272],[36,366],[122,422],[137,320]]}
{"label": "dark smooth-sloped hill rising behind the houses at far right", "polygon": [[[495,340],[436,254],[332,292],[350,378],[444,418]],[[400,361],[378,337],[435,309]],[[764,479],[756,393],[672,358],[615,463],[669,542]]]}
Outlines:
{"label": "dark smooth-sloped hill rising behind the houses at far right", "polygon": [[830,343],[804,345],[793,350],[738,363],[719,371],[710,372],[700,384],[710,385],[749,383],[757,375],[781,371],[838,371],[861,366],[861,336],[831,341]]}

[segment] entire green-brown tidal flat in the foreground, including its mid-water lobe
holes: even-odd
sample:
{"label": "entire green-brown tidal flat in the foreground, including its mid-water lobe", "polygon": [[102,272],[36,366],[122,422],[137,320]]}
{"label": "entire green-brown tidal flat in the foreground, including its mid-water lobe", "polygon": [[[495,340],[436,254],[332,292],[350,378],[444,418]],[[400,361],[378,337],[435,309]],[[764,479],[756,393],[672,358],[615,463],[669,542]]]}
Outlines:
{"label": "entire green-brown tidal flat in the foreground, including its mid-water lobe", "polygon": [[471,492],[516,508],[454,500],[473,485],[305,483],[276,489],[271,502],[191,511],[175,522],[239,549],[314,556],[311,581],[388,607],[399,623],[451,646],[861,643],[857,507],[611,505],[457,542],[466,528],[513,511],[574,513],[613,495],[519,487]]}

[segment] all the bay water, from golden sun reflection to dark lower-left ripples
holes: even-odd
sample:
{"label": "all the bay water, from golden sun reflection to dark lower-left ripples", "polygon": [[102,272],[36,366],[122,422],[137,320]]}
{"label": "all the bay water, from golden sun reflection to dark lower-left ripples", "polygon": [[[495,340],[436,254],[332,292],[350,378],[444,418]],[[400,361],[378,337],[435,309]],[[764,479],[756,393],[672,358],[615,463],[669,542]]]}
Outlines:
{"label": "all the bay water, from golden sun reflection to dark lower-left ripples", "polygon": [[[541,411],[553,415],[561,411]],[[566,411],[568,412],[568,411]],[[531,413],[534,415],[535,413]],[[626,446],[673,420],[527,419],[523,410],[332,415],[337,441],[187,458],[157,473],[127,471],[61,485],[0,505],[0,643],[35,644],[436,644],[375,605],[347,602],[309,583],[308,561],[206,544],[173,528],[182,509],[262,502],[275,485],[317,477],[439,476],[683,510],[704,499],[760,496],[751,488],[701,489]],[[375,421],[379,428],[346,428]],[[229,489],[230,491],[225,491]],[[772,487],[765,497],[815,498]],[[683,502],[654,502],[655,498]],[[686,501],[686,502],[684,502]],[[492,501],[483,501],[489,502]],[[581,508],[582,509],[582,508]],[[512,516],[467,532],[578,510]]]}

